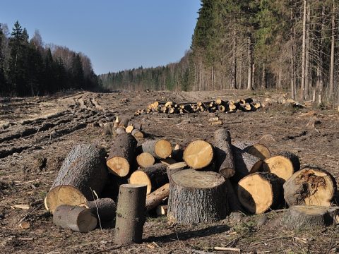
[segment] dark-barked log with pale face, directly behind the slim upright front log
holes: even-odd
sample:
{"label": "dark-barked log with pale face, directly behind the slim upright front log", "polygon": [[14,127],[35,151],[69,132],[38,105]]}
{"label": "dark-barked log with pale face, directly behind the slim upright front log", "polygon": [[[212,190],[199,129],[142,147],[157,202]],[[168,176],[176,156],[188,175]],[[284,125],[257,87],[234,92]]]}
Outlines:
{"label": "dark-barked log with pale face, directly behind the slim upright front log", "polygon": [[151,167],[145,169],[138,169],[131,174],[129,183],[131,184],[143,184],[147,186],[147,195],[155,189],[168,183],[168,177],[166,173],[167,166],[162,163],[156,163]]}

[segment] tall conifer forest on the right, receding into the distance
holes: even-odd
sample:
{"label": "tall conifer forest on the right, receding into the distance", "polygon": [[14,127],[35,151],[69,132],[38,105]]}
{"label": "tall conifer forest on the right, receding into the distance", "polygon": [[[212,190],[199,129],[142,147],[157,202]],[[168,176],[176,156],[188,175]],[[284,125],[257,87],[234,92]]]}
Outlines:
{"label": "tall conifer forest on the right, receding into the distance", "polygon": [[[179,63],[100,75],[112,89],[290,90],[339,100],[339,0],[201,0]],[[320,97],[319,97],[320,95]]]}

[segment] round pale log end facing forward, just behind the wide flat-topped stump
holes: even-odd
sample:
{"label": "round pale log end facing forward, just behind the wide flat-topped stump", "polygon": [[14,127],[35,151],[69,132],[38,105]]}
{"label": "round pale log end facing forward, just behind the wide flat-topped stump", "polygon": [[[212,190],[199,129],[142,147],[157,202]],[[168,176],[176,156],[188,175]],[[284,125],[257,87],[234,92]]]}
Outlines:
{"label": "round pale log end facing forward, just behind the wide flat-topped stump", "polygon": [[196,140],[186,147],[183,159],[192,169],[203,169],[213,161],[213,146],[204,140]]}

